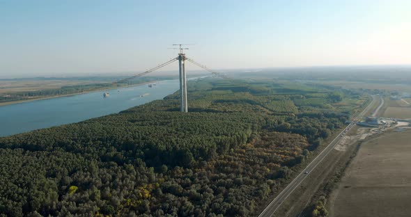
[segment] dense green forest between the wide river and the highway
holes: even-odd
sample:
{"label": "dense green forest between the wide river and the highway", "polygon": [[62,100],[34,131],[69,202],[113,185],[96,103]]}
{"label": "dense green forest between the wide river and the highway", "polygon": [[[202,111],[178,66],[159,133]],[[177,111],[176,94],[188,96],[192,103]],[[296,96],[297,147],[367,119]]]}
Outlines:
{"label": "dense green forest between the wide river and the highway", "polygon": [[0,216],[256,216],[363,95],[189,82],[118,114],[0,138]]}

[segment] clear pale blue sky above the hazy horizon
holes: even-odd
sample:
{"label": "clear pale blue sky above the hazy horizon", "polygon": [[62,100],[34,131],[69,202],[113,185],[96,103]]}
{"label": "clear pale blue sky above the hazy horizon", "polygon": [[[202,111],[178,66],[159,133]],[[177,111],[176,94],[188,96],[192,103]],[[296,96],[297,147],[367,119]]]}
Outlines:
{"label": "clear pale blue sky above the hazy horizon", "polygon": [[139,72],[180,42],[215,69],[411,64],[411,1],[0,1],[0,77]]}

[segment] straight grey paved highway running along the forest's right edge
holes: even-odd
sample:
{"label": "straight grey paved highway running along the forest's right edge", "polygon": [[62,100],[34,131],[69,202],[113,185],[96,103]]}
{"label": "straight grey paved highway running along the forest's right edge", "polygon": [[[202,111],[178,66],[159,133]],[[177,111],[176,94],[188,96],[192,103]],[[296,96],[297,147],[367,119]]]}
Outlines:
{"label": "straight grey paved highway running along the forest's right edge", "polygon": [[[376,100],[377,97],[373,96],[373,101],[364,109],[364,111],[362,111],[362,113],[359,113],[359,115],[357,116],[357,120],[362,118],[367,113],[367,111],[371,109],[373,104],[375,104]],[[329,154],[329,152],[331,152],[334,149],[334,147],[339,143],[343,135],[350,131],[353,125],[355,125],[355,122],[348,124],[348,126],[345,129],[343,129],[343,131],[341,131],[339,135],[336,136],[336,138],[334,138],[334,140],[332,140],[332,142],[329,143],[327,147],[325,147],[323,152],[318,154],[318,156],[316,156],[316,158],[313,159],[313,161],[311,161],[311,163],[309,163],[309,165],[306,168],[304,168],[304,170],[302,170],[302,172],[299,175],[297,175],[297,177],[295,177],[293,181],[290,182],[290,184],[288,184],[286,188],[284,188],[283,191],[281,191],[281,193],[279,193],[279,195],[277,195],[277,198],[274,198],[274,200],[270,202],[270,204],[263,210],[263,212],[261,212],[259,217],[272,216],[274,212],[277,211],[277,209],[281,206],[284,200],[286,200],[288,196],[291,193],[293,193],[295,188],[300,186],[302,181],[304,181],[305,177],[307,177],[308,173],[311,172],[314,168],[316,168],[316,166],[318,166],[318,164],[325,158],[325,156],[327,156],[327,154]]]}

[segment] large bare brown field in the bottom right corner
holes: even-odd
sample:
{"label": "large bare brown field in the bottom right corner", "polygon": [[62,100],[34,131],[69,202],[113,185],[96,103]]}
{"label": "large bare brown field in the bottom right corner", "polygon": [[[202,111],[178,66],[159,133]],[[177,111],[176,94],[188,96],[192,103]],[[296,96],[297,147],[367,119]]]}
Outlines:
{"label": "large bare brown field in the bottom right corner", "polygon": [[330,216],[410,216],[411,131],[363,143],[329,198]]}

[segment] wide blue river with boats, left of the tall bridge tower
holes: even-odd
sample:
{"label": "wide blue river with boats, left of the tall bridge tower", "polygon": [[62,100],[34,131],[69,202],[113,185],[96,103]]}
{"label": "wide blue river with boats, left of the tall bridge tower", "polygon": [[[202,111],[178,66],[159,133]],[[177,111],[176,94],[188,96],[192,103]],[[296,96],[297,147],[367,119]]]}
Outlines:
{"label": "wide blue river with boats, left of the tall bridge tower", "polygon": [[167,80],[157,81],[152,88],[141,85],[107,90],[109,97],[103,97],[104,91],[96,91],[0,106],[0,136],[118,113],[155,99],[162,99],[178,89],[178,80]]}

